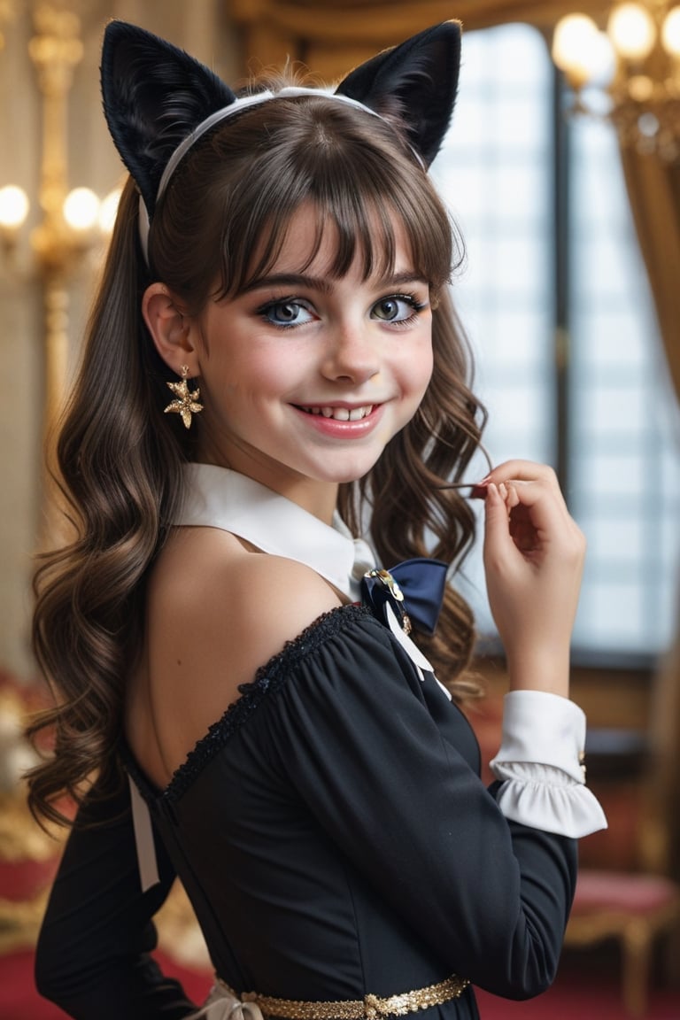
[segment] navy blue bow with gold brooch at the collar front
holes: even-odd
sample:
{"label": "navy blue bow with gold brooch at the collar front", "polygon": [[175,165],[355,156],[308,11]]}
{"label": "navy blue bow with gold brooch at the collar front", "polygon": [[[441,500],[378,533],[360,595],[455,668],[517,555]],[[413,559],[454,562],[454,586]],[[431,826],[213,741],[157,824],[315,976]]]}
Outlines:
{"label": "navy blue bow with gold brooch at the collar front", "polygon": [[362,602],[385,621],[385,605],[408,633],[411,623],[419,630],[434,633],[447,585],[448,566],[440,560],[418,557],[405,560],[389,570],[369,570],[361,579]]}

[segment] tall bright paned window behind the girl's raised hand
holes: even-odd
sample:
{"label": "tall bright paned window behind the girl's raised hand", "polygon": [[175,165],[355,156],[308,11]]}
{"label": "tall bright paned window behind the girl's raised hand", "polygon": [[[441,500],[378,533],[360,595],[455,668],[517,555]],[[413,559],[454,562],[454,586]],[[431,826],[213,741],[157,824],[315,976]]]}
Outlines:
{"label": "tall bright paned window behind the girl's raised hand", "polygon": [[[605,121],[558,120],[564,97],[533,29],[470,33],[463,53],[432,173],[467,251],[454,298],[486,446],[494,463],[542,460],[563,477],[588,539],[575,651],[656,655],[675,622],[679,423],[616,137]],[[491,632],[480,548],[465,573]]]}

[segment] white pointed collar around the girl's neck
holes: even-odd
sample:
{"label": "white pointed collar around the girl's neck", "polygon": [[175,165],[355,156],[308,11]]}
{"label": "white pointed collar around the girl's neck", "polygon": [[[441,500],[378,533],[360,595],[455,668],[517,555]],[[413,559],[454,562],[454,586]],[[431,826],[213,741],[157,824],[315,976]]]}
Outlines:
{"label": "white pointed collar around the girl's neck", "polygon": [[311,567],[349,599],[359,599],[375,557],[335,514],[332,527],[245,474],[214,464],[187,464],[186,495],[175,524],[219,527],[264,553]]}

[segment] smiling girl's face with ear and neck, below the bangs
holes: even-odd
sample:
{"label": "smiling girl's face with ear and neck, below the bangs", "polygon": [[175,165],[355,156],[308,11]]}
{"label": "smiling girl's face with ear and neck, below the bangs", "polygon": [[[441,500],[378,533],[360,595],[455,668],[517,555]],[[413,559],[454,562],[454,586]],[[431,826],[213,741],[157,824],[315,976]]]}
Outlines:
{"label": "smiling girl's face with ear and neck, below the bangs", "polygon": [[[370,471],[413,418],[432,371],[429,280],[390,217],[394,266],[357,251],[333,266],[338,228],[317,238],[305,201],[264,275],[185,317],[164,284],[144,296],[156,347],[200,377],[196,459],[228,465],[331,523],[339,482]],[[375,224],[377,234],[377,223]]]}

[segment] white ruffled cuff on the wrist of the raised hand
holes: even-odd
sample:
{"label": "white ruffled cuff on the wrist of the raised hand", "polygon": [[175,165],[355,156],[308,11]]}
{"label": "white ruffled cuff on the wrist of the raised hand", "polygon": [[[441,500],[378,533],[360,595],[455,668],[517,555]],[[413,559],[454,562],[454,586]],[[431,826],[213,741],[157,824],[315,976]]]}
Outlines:
{"label": "white ruffled cuff on the wrist of the raised hand", "polygon": [[503,740],[490,762],[503,780],[507,818],[572,838],[607,828],[585,786],[585,716],[573,702],[541,691],[512,691],[504,701]]}

